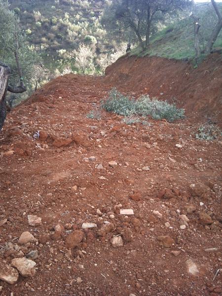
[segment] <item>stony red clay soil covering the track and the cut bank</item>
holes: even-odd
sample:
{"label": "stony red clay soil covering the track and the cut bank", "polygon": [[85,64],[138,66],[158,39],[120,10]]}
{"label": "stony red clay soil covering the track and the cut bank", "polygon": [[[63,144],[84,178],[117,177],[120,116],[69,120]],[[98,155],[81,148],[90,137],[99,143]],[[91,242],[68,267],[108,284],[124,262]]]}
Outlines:
{"label": "stony red clay soil covering the track and the cut bank", "polygon": [[[38,256],[30,277],[0,280],[0,295],[221,295],[221,139],[196,140],[200,122],[190,120],[191,107],[174,123],[126,125],[104,111],[100,120],[86,117],[113,85],[133,95],[139,84],[155,96],[163,89],[191,106],[200,93],[198,77],[189,78],[195,71],[211,86],[198,97],[201,115],[219,111],[204,105],[221,91],[212,59],[201,72],[158,58],[144,59],[139,70],[142,60],[125,58],[107,77],[58,77],[8,114],[0,133],[0,278],[12,259]],[[152,64],[153,77],[138,80],[137,71]],[[183,102],[179,77],[188,77],[193,95],[184,90]],[[120,215],[123,209],[134,215]],[[41,222],[31,226],[28,215]],[[97,227],[84,229],[85,222]],[[18,243],[25,231],[36,241]]]}

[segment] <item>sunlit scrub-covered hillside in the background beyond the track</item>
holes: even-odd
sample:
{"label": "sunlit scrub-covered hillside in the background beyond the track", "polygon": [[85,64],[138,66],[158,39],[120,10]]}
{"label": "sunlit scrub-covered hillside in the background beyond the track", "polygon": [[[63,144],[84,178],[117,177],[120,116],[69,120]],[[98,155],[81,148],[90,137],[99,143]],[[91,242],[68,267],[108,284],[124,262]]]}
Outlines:
{"label": "sunlit scrub-covered hillside in the background beyond the track", "polygon": [[[74,67],[72,51],[79,42],[92,50],[95,70],[107,66],[109,55],[125,46],[107,37],[101,25],[101,15],[106,1],[97,0],[10,0],[11,9],[18,14],[28,41],[40,51],[46,66],[61,73],[66,67]],[[123,46],[123,51],[121,47]],[[114,60],[111,59],[111,62]],[[109,63],[108,63],[109,64]]]}

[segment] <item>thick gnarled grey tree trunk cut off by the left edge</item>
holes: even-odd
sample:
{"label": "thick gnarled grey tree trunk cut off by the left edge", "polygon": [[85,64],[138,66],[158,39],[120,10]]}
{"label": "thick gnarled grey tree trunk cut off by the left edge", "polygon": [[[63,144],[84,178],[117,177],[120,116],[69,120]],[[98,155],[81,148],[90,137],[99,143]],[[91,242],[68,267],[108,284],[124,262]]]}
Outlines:
{"label": "thick gnarled grey tree trunk cut off by the left edge", "polygon": [[0,63],[0,130],[6,117],[5,99],[8,88],[8,77],[10,69],[3,63]]}

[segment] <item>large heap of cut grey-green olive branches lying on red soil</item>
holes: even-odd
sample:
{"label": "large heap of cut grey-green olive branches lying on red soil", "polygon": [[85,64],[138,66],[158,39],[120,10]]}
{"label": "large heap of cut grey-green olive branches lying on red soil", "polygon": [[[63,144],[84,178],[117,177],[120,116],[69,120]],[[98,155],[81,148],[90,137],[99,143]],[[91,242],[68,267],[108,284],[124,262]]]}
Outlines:
{"label": "large heap of cut grey-green olive branches lying on red soil", "polygon": [[124,96],[113,88],[107,100],[102,101],[102,107],[108,112],[114,112],[123,116],[141,115],[151,116],[153,119],[163,119],[172,122],[184,118],[184,109],[178,109],[175,104],[166,101],[150,99],[148,95],[138,100]]}

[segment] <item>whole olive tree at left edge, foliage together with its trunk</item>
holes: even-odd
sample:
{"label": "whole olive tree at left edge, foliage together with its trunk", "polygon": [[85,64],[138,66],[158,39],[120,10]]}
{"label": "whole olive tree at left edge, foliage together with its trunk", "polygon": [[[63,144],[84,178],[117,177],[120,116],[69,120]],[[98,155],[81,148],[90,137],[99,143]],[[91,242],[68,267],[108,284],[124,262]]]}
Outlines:
{"label": "whole olive tree at left edge, foliage together with its trunk", "polygon": [[26,84],[39,61],[19,27],[18,17],[9,10],[8,1],[0,0],[0,130],[6,116],[7,91],[27,91]]}

